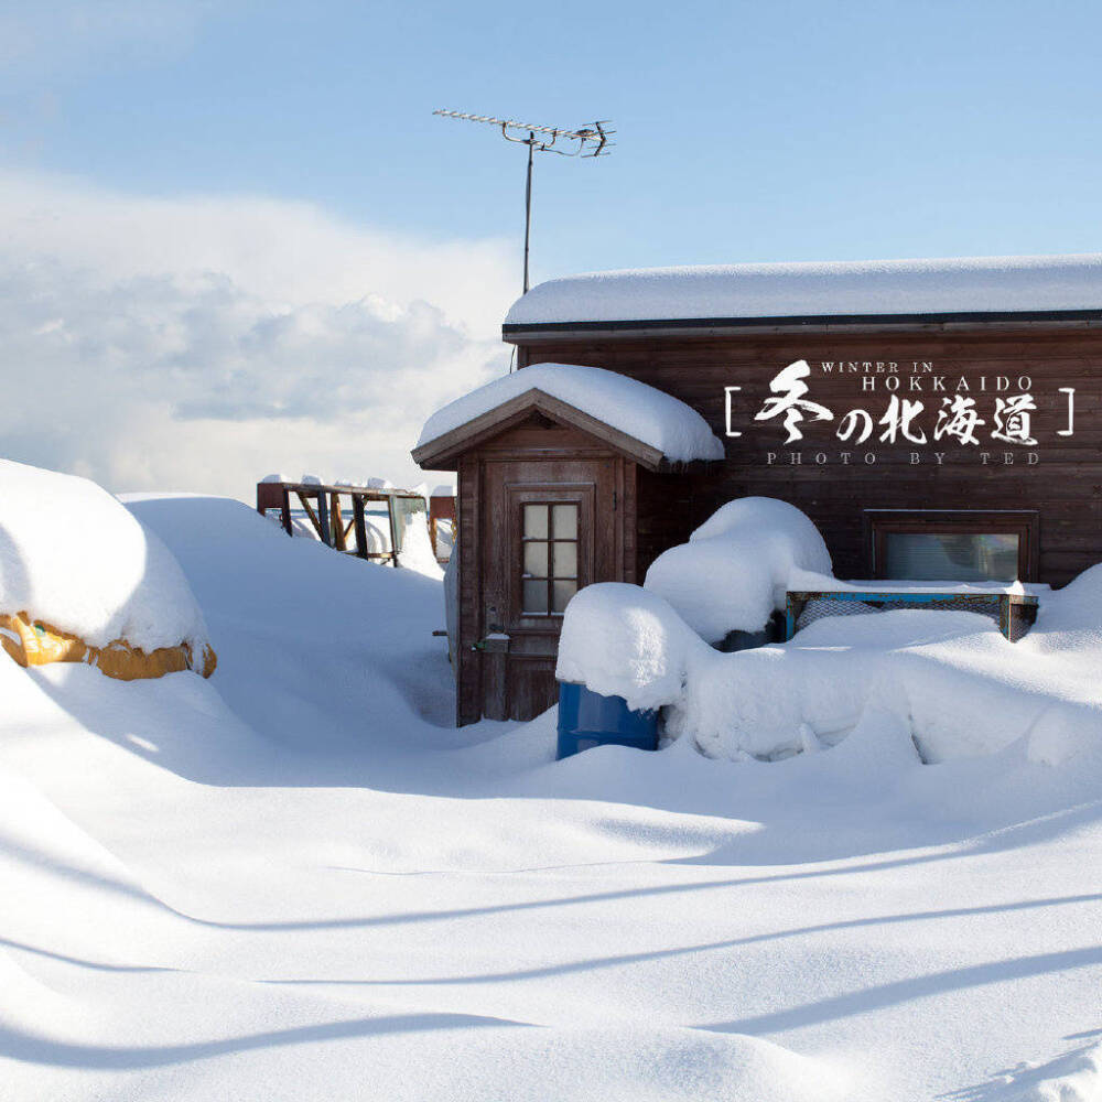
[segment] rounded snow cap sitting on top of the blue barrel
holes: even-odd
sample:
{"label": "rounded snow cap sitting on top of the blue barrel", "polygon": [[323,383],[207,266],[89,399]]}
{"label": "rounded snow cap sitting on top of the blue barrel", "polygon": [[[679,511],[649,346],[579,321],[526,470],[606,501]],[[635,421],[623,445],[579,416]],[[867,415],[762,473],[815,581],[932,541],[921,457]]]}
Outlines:
{"label": "rounded snow cap sitting on top of the blue barrel", "polygon": [[566,606],[555,677],[633,709],[660,707],[680,699],[689,656],[703,646],[661,597],[601,582]]}

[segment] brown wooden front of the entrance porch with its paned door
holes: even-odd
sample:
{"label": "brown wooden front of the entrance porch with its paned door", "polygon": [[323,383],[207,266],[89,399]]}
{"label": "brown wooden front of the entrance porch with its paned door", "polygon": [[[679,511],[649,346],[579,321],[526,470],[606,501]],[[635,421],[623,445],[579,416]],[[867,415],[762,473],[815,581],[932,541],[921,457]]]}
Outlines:
{"label": "brown wooden front of the entrance porch with its paned door", "polygon": [[555,702],[566,603],[623,577],[620,462],[486,463],[478,653],[488,719],[531,720]]}

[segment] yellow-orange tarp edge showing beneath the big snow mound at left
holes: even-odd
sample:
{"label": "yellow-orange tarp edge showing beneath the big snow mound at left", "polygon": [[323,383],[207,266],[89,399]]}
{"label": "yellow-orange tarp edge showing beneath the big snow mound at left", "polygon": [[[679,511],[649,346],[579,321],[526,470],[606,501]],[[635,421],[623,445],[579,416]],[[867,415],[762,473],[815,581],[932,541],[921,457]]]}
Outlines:
{"label": "yellow-orange tarp edge showing beneath the big snow mound at left", "polygon": [[75,635],[33,620],[28,613],[0,615],[0,647],[23,667],[86,662],[120,681],[161,678],[181,670],[194,670],[208,678],[218,665],[218,658],[209,647],[204,647],[202,655],[195,655],[188,642],[158,647],[149,652],[131,647],[126,639],[115,639],[106,647],[89,647]]}

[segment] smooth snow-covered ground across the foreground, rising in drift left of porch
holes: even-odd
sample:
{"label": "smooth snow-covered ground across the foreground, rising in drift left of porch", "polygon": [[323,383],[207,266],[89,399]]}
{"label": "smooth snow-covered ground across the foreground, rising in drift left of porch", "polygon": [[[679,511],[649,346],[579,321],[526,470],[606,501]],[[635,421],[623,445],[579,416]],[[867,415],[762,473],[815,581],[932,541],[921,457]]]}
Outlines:
{"label": "smooth snow-covered ground across the foreground, rising in drift left of porch", "polygon": [[447,725],[439,582],[131,508],[218,677],[0,663],[0,1096],[1096,1095],[1096,754],[553,763],[553,711]]}

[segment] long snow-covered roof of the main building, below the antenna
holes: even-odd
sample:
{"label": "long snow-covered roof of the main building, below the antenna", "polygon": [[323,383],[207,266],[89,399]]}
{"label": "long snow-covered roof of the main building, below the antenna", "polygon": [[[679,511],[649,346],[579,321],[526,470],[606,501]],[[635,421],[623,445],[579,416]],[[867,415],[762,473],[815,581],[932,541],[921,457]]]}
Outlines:
{"label": "long snow-covered roof of the main building, below the antenna", "polygon": [[548,280],[505,326],[1102,312],[1102,253],[646,268]]}

